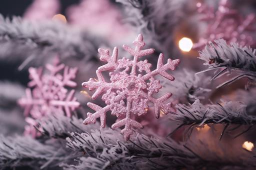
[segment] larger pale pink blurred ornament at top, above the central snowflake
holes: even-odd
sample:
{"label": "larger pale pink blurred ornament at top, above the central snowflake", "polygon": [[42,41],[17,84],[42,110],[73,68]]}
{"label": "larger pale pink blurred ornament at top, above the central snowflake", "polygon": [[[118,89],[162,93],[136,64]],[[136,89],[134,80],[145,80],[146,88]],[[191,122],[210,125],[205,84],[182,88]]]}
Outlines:
{"label": "larger pale pink blurred ornament at top, above the central snowflake", "polygon": [[119,40],[121,35],[131,32],[121,23],[120,11],[109,0],[81,0],[80,4],[67,9],[67,18],[70,24],[110,41]]}

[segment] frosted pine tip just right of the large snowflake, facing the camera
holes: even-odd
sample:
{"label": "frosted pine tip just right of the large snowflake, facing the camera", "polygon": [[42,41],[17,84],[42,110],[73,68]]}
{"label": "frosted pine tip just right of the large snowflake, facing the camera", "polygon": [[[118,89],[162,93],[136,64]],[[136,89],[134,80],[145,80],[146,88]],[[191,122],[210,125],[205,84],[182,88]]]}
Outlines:
{"label": "frosted pine tip just right of the large snowflake, facing the camera", "polygon": [[196,99],[208,97],[209,77],[203,74],[195,75],[195,72],[186,69],[173,73],[173,76],[175,80],[169,84],[169,81],[164,79],[163,86],[166,88],[164,93],[172,93],[171,99],[174,102],[187,104],[193,103]]}

